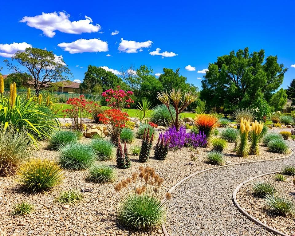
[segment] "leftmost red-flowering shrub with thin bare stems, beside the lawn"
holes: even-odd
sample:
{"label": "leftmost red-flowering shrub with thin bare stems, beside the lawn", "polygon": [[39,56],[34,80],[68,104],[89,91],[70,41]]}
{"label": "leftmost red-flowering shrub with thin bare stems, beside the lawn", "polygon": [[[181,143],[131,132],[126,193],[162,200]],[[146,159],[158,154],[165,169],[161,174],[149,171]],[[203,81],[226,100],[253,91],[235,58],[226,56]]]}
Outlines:
{"label": "leftmost red-flowering shrub with thin bare stems, beside the lawn", "polygon": [[92,101],[86,101],[83,95],[79,98],[70,98],[67,101],[67,104],[69,104],[71,108],[63,110],[62,112],[65,113],[64,117],[68,116],[71,119],[73,129],[83,131],[84,121],[89,113],[91,113],[90,105],[92,103]]}

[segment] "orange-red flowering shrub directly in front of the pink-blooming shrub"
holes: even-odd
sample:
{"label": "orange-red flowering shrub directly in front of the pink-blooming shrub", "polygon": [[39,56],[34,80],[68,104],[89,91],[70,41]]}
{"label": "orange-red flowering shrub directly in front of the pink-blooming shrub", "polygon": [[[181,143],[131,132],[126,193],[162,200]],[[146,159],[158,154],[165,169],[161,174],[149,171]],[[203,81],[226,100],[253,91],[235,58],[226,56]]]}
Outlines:
{"label": "orange-red flowering shrub directly in front of the pink-blooming shrub", "polygon": [[97,117],[108,128],[112,143],[120,143],[120,134],[128,121],[128,114],[119,109],[109,109],[98,114]]}

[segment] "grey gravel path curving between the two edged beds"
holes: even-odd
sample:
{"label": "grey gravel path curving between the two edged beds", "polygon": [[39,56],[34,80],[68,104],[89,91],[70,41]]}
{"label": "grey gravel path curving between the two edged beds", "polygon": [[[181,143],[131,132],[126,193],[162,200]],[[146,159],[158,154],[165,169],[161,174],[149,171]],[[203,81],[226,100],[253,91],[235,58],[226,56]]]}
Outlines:
{"label": "grey gravel path curving between the two edged beds", "polygon": [[[288,145],[295,150],[294,142]],[[224,167],[186,180],[166,203],[169,235],[273,235],[244,217],[235,208],[232,194],[246,179],[294,165],[294,157]]]}

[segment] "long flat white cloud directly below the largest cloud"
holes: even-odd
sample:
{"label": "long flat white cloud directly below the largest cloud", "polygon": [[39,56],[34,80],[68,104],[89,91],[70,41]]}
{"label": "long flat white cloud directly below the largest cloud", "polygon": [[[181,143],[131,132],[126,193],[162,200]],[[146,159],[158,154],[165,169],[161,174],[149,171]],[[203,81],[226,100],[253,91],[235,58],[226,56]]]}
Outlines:
{"label": "long flat white cloud directly below the largest cloud", "polygon": [[65,51],[73,53],[96,53],[96,52],[107,52],[108,42],[104,42],[100,39],[78,39],[71,43],[59,43],[57,46],[64,48]]}

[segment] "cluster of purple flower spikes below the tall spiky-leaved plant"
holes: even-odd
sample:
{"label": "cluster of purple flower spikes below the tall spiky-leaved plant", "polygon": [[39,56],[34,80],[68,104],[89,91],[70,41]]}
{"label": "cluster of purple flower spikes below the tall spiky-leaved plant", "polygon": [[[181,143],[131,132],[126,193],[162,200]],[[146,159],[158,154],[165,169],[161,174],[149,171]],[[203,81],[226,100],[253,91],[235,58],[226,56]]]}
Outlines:
{"label": "cluster of purple flower spikes below the tall spiky-leaved plant", "polygon": [[203,147],[206,145],[206,135],[200,132],[186,133],[185,127],[181,126],[178,131],[176,131],[175,126],[170,127],[164,134],[160,134],[160,138],[164,140],[170,139],[169,148],[182,148],[184,146]]}

